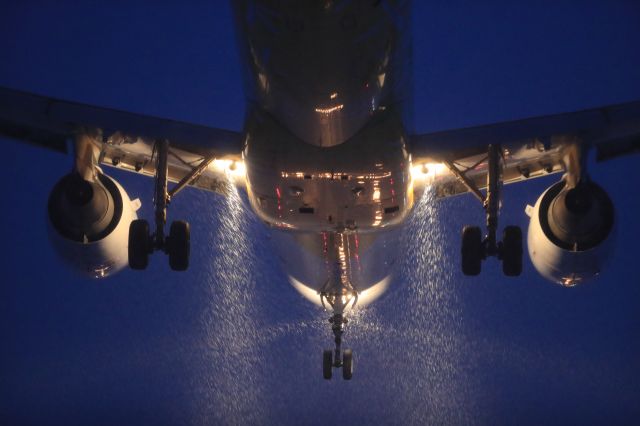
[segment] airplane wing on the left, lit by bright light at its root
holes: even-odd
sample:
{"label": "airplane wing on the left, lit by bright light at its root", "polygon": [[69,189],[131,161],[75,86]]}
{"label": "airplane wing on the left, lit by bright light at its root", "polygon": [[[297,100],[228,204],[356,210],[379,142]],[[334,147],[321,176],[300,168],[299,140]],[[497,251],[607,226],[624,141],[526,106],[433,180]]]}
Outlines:
{"label": "airplane wing on the left, lit by bright light at its root", "polygon": [[[240,160],[242,134],[163,118],[69,102],[0,87],[0,134],[66,151],[68,141],[89,137],[101,164],[155,174],[154,142],[170,142],[169,180],[225,193],[226,169]],[[215,161],[218,160],[218,161]],[[206,165],[207,167],[202,167]],[[210,166],[210,167],[209,167]]]}

